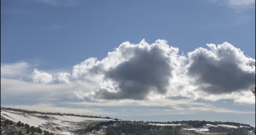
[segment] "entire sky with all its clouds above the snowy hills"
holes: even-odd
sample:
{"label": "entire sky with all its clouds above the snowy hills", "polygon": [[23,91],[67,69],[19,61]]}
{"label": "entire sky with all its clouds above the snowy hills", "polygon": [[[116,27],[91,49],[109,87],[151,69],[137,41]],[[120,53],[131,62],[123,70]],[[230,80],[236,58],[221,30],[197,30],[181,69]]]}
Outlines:
{"label": "entire sky with all its clouds above the snowy hills", "polygon": [[255,0],[1,0],[1,106],[255,126]]}

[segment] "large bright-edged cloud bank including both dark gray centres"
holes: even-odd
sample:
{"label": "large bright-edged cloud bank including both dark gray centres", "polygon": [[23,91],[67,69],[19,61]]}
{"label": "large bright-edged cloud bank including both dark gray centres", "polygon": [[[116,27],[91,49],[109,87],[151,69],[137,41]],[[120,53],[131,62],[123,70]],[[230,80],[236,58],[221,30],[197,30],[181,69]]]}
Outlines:
{"label": "large bright-edged cloud bank including both dark gray centres", "polygon": [[[255,59],[227,42],[207,46],[210,49],[196,48],[187,55],[179,55],[179,49],[169,46],[165,40],[151,45],[144,40],[138,44],[123,42],[102,60],[88,58],[74,65],[70,73],[35,69],[32,80],[45,84],[55,94],[65,86],[67,93],[79,99],[152,100],[182,96],[255,103],[253,94],[249,93],[249,87],[255,86]],[[31,82],[21,82],[28,89],[30,85],[39,89]],[[2,88],[17,89],[10,85],[1,86],[1,92]]]}

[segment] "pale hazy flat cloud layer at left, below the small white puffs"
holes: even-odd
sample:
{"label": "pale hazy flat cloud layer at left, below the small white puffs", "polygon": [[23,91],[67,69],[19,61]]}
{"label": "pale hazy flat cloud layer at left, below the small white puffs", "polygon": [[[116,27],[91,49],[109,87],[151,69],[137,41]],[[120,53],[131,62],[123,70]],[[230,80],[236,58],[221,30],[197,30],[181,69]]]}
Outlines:
{"label": "pale hazy flat cloud layer at left, below the small white puffs", "polygon": [[24,80],[1,78],[1,100],[48,101],[76,99],[75,93],[89,93],[98,88],[98,84],[74,80],[71,84],[50,83],[38,85]]}

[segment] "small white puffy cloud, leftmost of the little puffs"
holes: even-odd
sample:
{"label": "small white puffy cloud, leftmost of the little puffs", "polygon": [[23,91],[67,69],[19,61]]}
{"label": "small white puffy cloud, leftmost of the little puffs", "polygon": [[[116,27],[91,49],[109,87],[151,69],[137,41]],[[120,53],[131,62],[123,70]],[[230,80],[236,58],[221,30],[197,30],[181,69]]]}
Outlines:
{"label": "small white puffy cloud, leftmost of the little puffs", "polygon": [[39,71],[38,69],[35,69],[33,71],[32,79],[33,79],[33,82],[38,84],[49,84],[53,82],[52,74],[48,74],[44,71]]}

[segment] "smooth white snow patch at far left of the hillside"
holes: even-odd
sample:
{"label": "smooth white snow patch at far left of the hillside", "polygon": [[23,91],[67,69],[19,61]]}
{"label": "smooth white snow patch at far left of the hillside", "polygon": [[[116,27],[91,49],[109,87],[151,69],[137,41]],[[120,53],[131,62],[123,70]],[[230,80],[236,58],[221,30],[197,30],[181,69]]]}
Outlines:
{"label": "smooth white snow patch at far left of the hillside", "polygon": [[21,116],[21,115],[15,114],[15,113],[10,113],[10,112],[4,111],[4,110],[2,110],[1,116],[8,117],[8,119],[10,119],[14,122],[21,121],[23,123],[28,123],[29,125],[33,125],[33,126],[36,126],[36,127],[38,125],[46,124],[46,122],[47,122],[46,120],[39,119],[37,117],[33,117],[33,116],[26,116],[25,117],[25,116]]}

